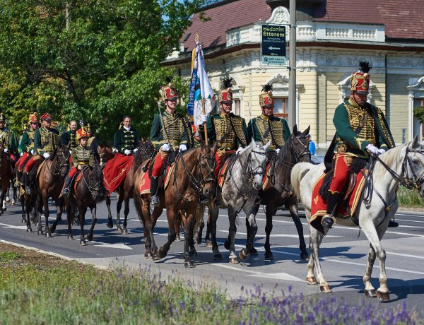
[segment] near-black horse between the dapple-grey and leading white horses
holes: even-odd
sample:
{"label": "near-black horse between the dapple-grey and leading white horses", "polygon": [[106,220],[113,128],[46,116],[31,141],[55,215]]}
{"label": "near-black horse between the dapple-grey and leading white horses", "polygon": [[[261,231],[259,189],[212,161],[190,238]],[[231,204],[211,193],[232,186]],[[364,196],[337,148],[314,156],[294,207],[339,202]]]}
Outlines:
{"label": "near-black horse between the dapple-grey and leading white horses", "polygon": [[[290,211],[290,215],[293,222],[295,223],[296,230],[298,230],[300,259],[307,260],[308,258],[305,238],[303,237],[303,226],[299,218],[298,199],[291,189],[290,172],[296,163],[310,162],[311,154],[306,139],[309,131],[309,126],[303,132],[298,131],[297,125],[293,126],[293,134],[290,136],[290,138],[288,138],[288,141],[285,142],[285,145],[283,148],[281,148],[280,153],[278,153],[276,156],[275,164],[271,166],[271,168],[273,168],[273,175],[271,175],[271,179],[269,179],[269,186],[266,187],[264,191],[259,191],[261,204],[266,206],[266,240],[264,245],[266,260],[273,260],[273,254],[269,244],[269,237],[272,230],[272,217],[275,214],[276,209],[280,206],[285,206],[285,208]],[[257,206],[257,209],[259,209],[259,205]],[[256,213],[254,214],[256,215]],[[247,234],[249,234],[249,222],[247,218],[246,226]],[[249,240],[249,237],[247,237],[247,240]],[[253,249],[250,253],[257,254],[256,249]]]}

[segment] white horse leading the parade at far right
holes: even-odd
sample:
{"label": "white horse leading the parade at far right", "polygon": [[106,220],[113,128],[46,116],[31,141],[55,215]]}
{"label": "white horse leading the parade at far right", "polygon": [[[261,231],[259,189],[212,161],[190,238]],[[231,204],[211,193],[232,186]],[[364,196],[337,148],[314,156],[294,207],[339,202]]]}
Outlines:
{"label": "white horse leading the parade at far right", "polygon": [[[397,146],[375,158],[375,165],[370,172],[371,177],[378,179],[372,183],[372,178],[367,180],[370,187],[365,187],[353,213],[353,218],[370,241],[368,261],[363,276],[365,285],[365,297],[376,297],[382,301],[388,301],[389,288],[387,287],[386,252],[382,248],[381,240],[389,225],[389,220],[396,213],[398,200],[396,190],[399,184],[408,188],[416,187],[421,197],[424,197],[424,145],[418,143],[417,137],[413,141],[402,146]],[[312,187],[324,171],[324,163],[312,165],[309,162],[300,162],[295,165],[291,174],[291,182],[296,195],[305,207],[307,220],[310,221],[312,205]],[[365,195],[364,193],[368,195]],[[372,195],[375,194],[375,195]],[[351,219],[336,218],[336,223],[344,226],[355,226]],[[307,283],[317,284],[323,293],[331,293],[319,262],[319,245],[324,234],[310,225],[310,252],[311,256],[307,264]],[[331,230],[335,231],[335,230]],[[372,266],[375,259],[379,261],[379,288],[371,284]],[[315,278],[314,268],[317,269]]]}

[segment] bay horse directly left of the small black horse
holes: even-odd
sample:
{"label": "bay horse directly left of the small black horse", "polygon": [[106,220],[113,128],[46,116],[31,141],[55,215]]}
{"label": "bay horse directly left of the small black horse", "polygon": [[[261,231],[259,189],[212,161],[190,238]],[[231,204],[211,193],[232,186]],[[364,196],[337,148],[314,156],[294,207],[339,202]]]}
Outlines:
{"label": "bay horse directly left of the small black horse", "polygon": [[[45,163],[40,167],[38,176],[35,178],[35,189],[40,202],[37,211],[38,235],[43,235],[41,223],[42,208],[44,208],[45,214],[46,237],[52,237],[52,232],[56,230],[57,223],[61,220],[63,199],[60,194],[69,170],[69,156],[68,146],[58,146],[54,149],[52,155],[45,160]],[[35,165],[35,168],[38,168],[37,165]],[[31,172],[35,172],[35,170]],[[56,204],[56,220],[54,220],[52,228],[49,228],[49,198],[53,198]]]}

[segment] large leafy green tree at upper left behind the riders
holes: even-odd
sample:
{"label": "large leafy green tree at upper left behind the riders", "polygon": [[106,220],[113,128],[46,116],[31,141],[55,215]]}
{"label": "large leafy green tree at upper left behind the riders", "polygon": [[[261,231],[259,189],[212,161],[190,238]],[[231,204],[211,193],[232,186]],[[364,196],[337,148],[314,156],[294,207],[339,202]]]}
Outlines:
{"label": "large leafy green tree at upper left behind the riders", "polygon": [[47,111],[62,126],[83,119],[108,139],[130,115],[148,135],[160,85],[173,75],[160,62],[178,47],[201,2],[4,0],[3,112],[16,129],[33,110]]}

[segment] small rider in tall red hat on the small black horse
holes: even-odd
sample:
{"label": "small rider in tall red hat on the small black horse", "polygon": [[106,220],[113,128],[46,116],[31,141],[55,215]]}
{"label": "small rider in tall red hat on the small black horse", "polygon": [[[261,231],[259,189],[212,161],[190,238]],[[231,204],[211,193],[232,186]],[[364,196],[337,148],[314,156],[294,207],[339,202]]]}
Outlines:
{"label": "small rider in tall red hat on the small black horse", "polygon": [[72,148],[72,169],[68,175],[66,175],[64,189],[61,192],[61,195],[69,195],[69,187],[76,173],[83,169],[85,166],[94,165],[94,153],[88,146],[88,133],[85,129],[79,129],[76,131],[76,142],[78,146]]}

